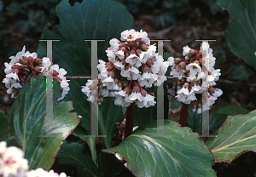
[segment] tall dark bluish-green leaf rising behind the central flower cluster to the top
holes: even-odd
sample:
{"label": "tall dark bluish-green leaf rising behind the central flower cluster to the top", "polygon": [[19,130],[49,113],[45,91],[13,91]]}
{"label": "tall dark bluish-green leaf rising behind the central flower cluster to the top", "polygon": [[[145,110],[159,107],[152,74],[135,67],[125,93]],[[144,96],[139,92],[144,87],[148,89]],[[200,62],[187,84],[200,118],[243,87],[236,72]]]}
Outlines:
{"label": "tall dark bluish-green leaf rising behind the central flower cluster to the top", "polygon": [[[61,39],[53,42],[53,63],[67,71],[67,76],[90,76],[90,42],[84,39],[102,39],[98,42],[98,58],[108,60],[105,50],[110,46],[109,40],[119,38],[120,33],[131,29],[133,17],[125,7],[111,0],[84,0],[73,7],[62,0],[56,6],[60,24],[53,30],[45,28],[41,39]],[[46,42],[40,42],[38,55],[45,56]],[[96,60],[96,59],[94,59]],[[93,68],[95,70],[95,68]],[[74,110],[83,118],[81,125],[90,130],[90,102],[81,92],[86,79],[70,79],[70,91],[65,100],[75,100]]]}

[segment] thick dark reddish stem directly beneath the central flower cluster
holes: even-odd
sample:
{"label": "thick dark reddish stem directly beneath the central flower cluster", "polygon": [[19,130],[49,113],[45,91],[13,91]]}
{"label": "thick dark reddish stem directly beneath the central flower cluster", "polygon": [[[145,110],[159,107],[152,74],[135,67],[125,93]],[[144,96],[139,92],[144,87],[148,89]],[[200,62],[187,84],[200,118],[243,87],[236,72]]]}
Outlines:
{"label": "thick dark reddish stem directly beneath the central flower cluster", "polygon": [[125,138],[132,133],[134,122],[134,103],[131,103],[126,109],[126,121],[125,121]]}

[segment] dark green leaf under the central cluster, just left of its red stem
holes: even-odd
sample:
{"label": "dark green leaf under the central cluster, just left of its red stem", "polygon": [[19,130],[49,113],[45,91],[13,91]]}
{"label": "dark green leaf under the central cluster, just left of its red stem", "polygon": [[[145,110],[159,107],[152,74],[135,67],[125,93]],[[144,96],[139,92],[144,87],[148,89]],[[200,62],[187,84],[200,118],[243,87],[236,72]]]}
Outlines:
{"label": "dark green leaf under the central cluster, just left of its red stem", "polygon": [[98,111],[99,134],[106,135],[106,137],[102,137],[106,148],[111,147],[111,140],[118,130],[115,122],[120,123],[124,120],[122,107],[114,105],[113,100],[114,98],[104,98]]}

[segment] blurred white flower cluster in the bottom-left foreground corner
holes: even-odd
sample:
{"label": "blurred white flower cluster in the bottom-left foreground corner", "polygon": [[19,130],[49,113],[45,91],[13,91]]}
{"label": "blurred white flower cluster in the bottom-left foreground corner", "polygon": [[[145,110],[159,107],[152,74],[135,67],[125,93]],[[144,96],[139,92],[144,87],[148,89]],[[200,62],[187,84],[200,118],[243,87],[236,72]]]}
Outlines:
{"label": "blurred white flower cluster in the bottom-left foreground corner", "polygon": [[24,158],[24,152],[15,146],[6,146],[5,141],[0,142],[0,176],[2,177],[67,177],[67,174],[60,175],[49,172],[43,168],[28,171],[28,161]]}

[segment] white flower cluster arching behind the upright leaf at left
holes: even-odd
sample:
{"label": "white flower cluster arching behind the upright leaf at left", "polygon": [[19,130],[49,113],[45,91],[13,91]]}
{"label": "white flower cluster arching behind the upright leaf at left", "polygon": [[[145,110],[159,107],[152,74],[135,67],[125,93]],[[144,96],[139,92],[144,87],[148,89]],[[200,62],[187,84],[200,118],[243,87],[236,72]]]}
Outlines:
{"label": "white flower cluster arching behind the upright leaf at left", "polygon": [[[25,83],[26,78],[32,74],[32,76],[43,75],[47,76],[47,68],[50,66],[49,58],[44,57],[43,59],[38,58],[37,53],[29,53],[26,51],[25,46],[22,51],[18,52],[15,56],[9,57],[11,59],[10,63],[5,62],[4,72],[6,77],[3,79],[5,87],[8,94],[12,94],[12,98],[16,98],[19,93],[20,88]],[[67,92],[69,91],[68,83],[66,77],[67,71],[64,69],[59,69],[58,65],[50,67],[50,71],[53,71],[53,76],[55,80],[61,85],[61,98],[62,100]]]}

